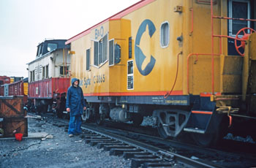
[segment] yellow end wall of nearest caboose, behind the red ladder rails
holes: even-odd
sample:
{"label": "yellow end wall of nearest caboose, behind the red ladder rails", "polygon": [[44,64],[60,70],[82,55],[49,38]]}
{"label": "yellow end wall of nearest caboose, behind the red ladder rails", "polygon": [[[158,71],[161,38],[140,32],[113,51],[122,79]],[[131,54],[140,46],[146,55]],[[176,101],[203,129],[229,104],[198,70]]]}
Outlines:
{"label": "yellow end wall of nearest caboose, behind the red ladder rails", "polygon": [[[214,15],[227,16],[227,1],[217,1]],[[222,7],[224,5],[224,7]],[[191,53],[211,54],[211,5],[192,4],[194,31],[190,36]],[[214,35],[227,35],[227,21],[214,19]],[[224,44],[224,45],[223,45]],[[214,54],[219,54],[219,38],[214,37]],[[222,38],[222,53],[227,53],[227,39]],[[220,58],[214,56],[214,92],[220,92]],[[211,93],[211,56],[199,55],[189,59],[189,93]]]}

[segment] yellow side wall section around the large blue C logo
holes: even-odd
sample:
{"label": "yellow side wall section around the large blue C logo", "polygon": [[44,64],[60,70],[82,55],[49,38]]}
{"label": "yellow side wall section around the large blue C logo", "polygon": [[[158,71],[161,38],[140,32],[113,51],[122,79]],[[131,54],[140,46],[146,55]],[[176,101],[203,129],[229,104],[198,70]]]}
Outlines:
{"label": "yellow side wall section around the large blue C logo", "polygon": [[[169,91],[172,88],[176,77],[177,54],[182,50],[182,46],[179,46],[176,40],[182,34],[183,19],[182,14],[173,11],[177,5],[182,5],[182,2],[154,1],[124,17],[132,20],[132,39],[134,40],[143,20],[151,20],[156,28],[151,38],[148,36],[146,29],[140,39],[140,49],[147,55],[145,62],[149,62],[150,54],[156,59],[154,69],[147,76],[143,76],[138,72],[138,68],[134,63],[135,86],[133,91]],[[166,21],[170,25],[170,42],[167,47],[162,48],[159,41],[160,26]],[[132,54],[132,58],[135,59],[134,52]],[[142,68],[145,67],[146,63],[143,63]],[[174,91],[182,90],[182,66],[179,67],[178,80]]]}

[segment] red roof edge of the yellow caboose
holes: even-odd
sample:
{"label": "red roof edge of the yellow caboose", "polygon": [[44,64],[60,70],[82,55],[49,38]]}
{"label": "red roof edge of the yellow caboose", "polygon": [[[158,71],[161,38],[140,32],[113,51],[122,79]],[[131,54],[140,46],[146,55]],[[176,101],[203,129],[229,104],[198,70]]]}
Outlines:
{"label": "red roof edge of the yellow caboose", "polygon": [[121,12],[116,13],[115,15],[110,16],[110,18],[107,18],[105,20],[102,20],[101,22],[97,23],[94,26],[91,26],[90,28],[86,29],[85,31],[82,31],[80,34],[75,35],[74,37],[71,37],[70,39],[67,39],[67,42],[65,42],[65,44],[69,44],[70,42],[75,41],[76,39],[79,39],[80,37],[85,36],[86,34],[89,34],[91,32],[91,29],[96,28],[97,26],[101,25],[102,23],[106,23],[109,20],[113,20],[113,19],[120,19],[122,17],[124,17],[125,15],[128,15],[129,13],[140,9],[140,7],[144,7],[147,4],[150,4],[152,1],[156,1],[156,0],[142,0],[142,1],[138,1],[136,4],[133,4],[130,7],[127,7],[126,9],[122,10]]}

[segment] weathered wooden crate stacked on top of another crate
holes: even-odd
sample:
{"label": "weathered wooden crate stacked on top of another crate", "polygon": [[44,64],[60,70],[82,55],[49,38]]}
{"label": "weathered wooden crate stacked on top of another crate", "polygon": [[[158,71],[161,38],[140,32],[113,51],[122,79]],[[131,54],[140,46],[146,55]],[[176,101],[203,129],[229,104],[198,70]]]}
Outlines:
{"label": "weathered wooden crate stacked on top of another crate", "polygon": [[0,96],[0,118],[21,118],[26,116],[23,96]]}

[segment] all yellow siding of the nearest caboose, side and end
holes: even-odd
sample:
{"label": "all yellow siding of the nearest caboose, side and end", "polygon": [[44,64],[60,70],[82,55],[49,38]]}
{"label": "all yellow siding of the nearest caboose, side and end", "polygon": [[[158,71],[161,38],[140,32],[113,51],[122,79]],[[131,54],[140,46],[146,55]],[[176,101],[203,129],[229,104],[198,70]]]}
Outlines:
{"label": "all yellow siding of the nearest caboose, side and end", "polygon": [[[176,7],[182,12],[175,12]],[[193,15],[192,15],[193,13]],[[217,1],[214,4],[214,15],[227,16],[227,1]],[[192,22],[193,18],[193,22]],[[148,27],[140,39],[140,50],[146,55],[142,70],[149,63],[151,56],[156,60],[154,68],[148,75],[141,75],[135,59],[135,39],[144,20],[151,20],[156,30],[152,37],[148,35]],[[160,30],[162,23],[169,23],[170,42],[167,47],[160,45]],[[193,25],[193,29],[192,29]],[[115,44],[121,46],[121,62],[114,66],[104,65],[96,67],[94,64],[94,41],[97,30],[103,27],[104,35],[114,39]],[[227,35],[227,21],[214,19],[214,34]],[[132,58],[129,54],[129,37],[132,37]],[[183,41],[178,42],[177,37]],[[98,37],[101,38],[101,37]],[[211,54],[211,6],[197,4],[195,1],[157,0],[140,7],[124,17],[107,20],[92,28],[80,39],[71,43],[72,50],[72,77],[83,80],[82,88],[85,93],[165,93],[173,88],[176,79],[177,56],[178,77],[173,89],[174,93],[200,94],[211,92],[211,56],[192,56],[189,58],[189,87],[187,87],[187,56],[189,53]],[[91,49],[91,70],[86,71],[86,49]],[[219,54],[219,38],[214,38],[214,53]],[[222,38],[222,53],[227,54],[227,39]],[[127,61],[134,63],[134,89],[127,90]],[[220,56],[214,56],[214,92],[222,92],[226,77],[222,75],[224,64],[220,63]],[[104,78],[104,82],[97,83],[97,79]],[[235,77],[236,78],[236,77]],[[236,80],[236,79],[233,80]],[[90,85],[85,85],[90,83]]]}

